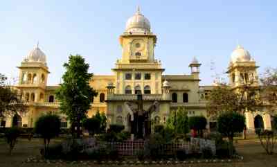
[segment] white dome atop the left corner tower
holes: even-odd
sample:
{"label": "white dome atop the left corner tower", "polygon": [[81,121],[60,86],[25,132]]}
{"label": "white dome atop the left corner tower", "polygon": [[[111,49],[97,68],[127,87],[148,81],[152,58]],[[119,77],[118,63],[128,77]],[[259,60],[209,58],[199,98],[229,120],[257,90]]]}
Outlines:
{"label": "white dome atop the left corner tower", "polygon": [[39,49],[38,44],[32,51],[28,53],[25,62],[42,62],[46,64],[46,55],[42,50]]}

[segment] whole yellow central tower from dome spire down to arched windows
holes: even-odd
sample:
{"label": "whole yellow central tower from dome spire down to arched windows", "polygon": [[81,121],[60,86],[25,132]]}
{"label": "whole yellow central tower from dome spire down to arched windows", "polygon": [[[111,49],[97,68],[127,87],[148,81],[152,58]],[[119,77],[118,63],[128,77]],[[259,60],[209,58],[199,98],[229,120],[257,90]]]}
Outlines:
{"label": "whole yellow central tower from dome spire down to arched windows", "polygon": [[157,37],[150,21],[138,8],[129,17],[119,37],[121,59],[112,69],[116,76],[115,94],[161,94],[161,62],[154,58]]}

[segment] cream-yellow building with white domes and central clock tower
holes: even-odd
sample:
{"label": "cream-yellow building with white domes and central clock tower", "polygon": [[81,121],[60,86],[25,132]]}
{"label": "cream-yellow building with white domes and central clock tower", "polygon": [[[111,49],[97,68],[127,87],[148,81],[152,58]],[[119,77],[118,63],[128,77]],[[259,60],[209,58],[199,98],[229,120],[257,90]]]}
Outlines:
{"label": "cream-yellow building with white domes and central clock tower", "polygon": [[[207,98],[216,85],[200,86],[199,73],[201,63],[196,58],[188,65],[188,75],[163,75],[163,66],[155,58],[154,48],[157,35],[152,33],[150,21],[140,10],[127,20],[125,31],[120,35],[122,57],[116,60],[113,75],[94,75],[90,85],[98,96],[91,101],[88,116],[97,111],[105,112],[108,124],[119,123],[130,128],[132,113],[126,102],[136,108],[136,94],[143,94],[143,109],[147,110],[157,102],[159,108],[151,114],[156,123],[166,123],[170,112],[177,107],[185,107],[188,116],[203,115],[208,120],[207,128],[215,128],[215,118],[206,113]],[[259,87],[255,60],[250,53],[238,46],[231,53],[231,62],[226,70],[229,73],[229,85],[234,91],[240,89],[249,80],[253,87]],[[37,118],[45,113],[60,114],[59,101],[55,97],[57,86],[48,86],[46,55],[39,46],[28,53],[19,69],[19,89],[22,99],[28,100],[28,112],[17,115],[17,124],[33,128]],[[60,114],[62,128],[69,128],[66,116]],[[247,112],[246,124],[249,130],[264,127],[271,129],[271,115],[264,111]],[[10,127],[12,117],[2,118],[1,126]]]}

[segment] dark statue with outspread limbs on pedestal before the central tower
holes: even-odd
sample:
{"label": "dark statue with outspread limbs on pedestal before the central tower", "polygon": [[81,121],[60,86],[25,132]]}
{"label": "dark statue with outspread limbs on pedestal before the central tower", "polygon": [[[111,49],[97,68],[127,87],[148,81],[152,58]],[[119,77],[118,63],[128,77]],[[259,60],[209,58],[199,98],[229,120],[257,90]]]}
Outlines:
{"label": "dark statue with outspread limbs on pedestal before the central tower", "polygon": [[124,105],[131,117],[131,134],[136,139],[144,139],[151,134],[151,114],[157,111],[159,103],[155,101],[147,110],[143,110],[143,95],[138,94],[137,97],[137,108],[130,102],[125,102]]}

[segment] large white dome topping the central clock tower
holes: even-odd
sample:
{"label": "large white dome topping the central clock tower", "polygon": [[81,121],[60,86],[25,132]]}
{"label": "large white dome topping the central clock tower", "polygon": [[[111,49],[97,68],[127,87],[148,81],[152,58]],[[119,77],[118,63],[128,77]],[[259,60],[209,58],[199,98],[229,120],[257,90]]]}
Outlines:
{"label": "large white dome topping the central clock tower", "polygon": [[150,33],[150,21],[141,14],[139,8],[134,16],[127,20],[125,31],[128,33]]}

